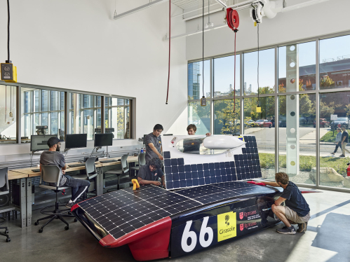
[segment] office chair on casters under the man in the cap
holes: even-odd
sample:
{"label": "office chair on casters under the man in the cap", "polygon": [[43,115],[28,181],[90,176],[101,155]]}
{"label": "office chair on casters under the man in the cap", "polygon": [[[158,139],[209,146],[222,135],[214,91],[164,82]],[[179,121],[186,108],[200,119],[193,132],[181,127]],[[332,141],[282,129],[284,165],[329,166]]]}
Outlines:
{"label": "office chair on casters under the man in the cap", "polygon": [[[53,192],[56,193],[56,202],[55,202],[55,210],[53,211],[45,211],[48,207],[44,207],[41,209],[42,214],[48,214],[48,216],[43,217],[42,219],[38,219],[34,225],[38,226],[39,221],[49,219],[46,223],[41,226],[39,229],[39,233],[43,232],[43,228],[48,224],[53,221],[53,219],[60,219],[63,223],[65,223],[67,226],[65,226],[65,230],[69,229],[69,224],[63,217],[74,217],[73,215],[69,215],[67,213],[62,213],[62,212],[69,212],[69,209],[59,209],[59,202],[58,202],[58,192],[62,191],[63,189],[67,189],[67,186],[58,186],[60,183],[60,177],[62,176],[62,171],[60,168],[56,165],[41,165],[41,176],[40,176],[40,182],[39,182],[39,187],[41,188],[47,188],[51,189]],[[49,183],[49,185],[42,184],[43,181]],[[51,186],[51,183],[56,183],[57,186]],[[52,206],[49,206],[52,207]],[[74,219],[74,221],[77,221]]]}

